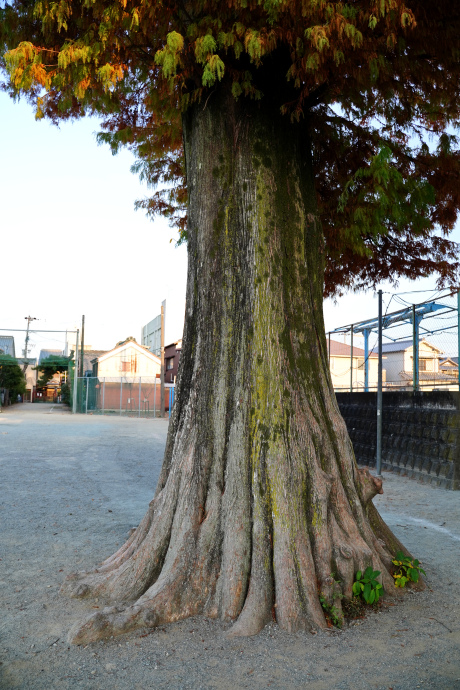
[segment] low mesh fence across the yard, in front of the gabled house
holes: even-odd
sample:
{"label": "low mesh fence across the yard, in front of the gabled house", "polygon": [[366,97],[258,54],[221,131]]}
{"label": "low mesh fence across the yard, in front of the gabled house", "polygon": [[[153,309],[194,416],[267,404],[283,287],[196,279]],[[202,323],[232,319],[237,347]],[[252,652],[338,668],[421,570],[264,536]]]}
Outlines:
{"label": "low mesh fence across the yard, in front of the gabled house", "polygon": [[[174,404],[174,384],[165,384],[165,412]],[[77,379],[76,412],[128,417],[161,416],[160,379],[144,377],[95,377]]]}

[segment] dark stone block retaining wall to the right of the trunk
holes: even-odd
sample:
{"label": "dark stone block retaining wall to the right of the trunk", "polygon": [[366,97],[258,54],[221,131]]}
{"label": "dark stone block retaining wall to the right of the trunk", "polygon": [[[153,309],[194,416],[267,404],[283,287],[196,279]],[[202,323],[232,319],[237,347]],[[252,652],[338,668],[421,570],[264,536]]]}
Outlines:
{"label": "dark stone block retaining wall to the right of the trunk", "polygon": [[[377,393],[336,393],[360,465],[375,467]],[[460,490],[460,393],[383,393],[382,469]]]}

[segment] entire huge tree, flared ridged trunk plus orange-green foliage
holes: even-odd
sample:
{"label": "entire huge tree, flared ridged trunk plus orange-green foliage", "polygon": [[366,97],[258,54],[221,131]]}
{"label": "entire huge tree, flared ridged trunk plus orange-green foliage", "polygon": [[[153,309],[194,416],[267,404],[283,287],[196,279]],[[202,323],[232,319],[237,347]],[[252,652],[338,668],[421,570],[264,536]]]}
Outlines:
{"label": "entire huge tree, flared ridged trunk plus orange-green foliage", "polygon": [[[6,88],[101,114],[188,240],[177,398],[155,497],[74,596],[84,642],[196,613],[324,627],[402,548],[330,382],[323,294],[437,271],[459,207],[460,32],[440,0],[14,0]],[[187,219],[184,208],[186,205]]]}

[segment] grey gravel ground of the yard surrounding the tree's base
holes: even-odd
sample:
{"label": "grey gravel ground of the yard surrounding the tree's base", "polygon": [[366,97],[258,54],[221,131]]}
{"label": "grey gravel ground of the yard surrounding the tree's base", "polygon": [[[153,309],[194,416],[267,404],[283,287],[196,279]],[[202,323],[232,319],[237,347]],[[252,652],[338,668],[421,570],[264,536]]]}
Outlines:
{"label": "grey gravel ground of the yard surrounding the tree's base", "polygon": [[87,647],[67,632],[97,602],[59,594],[67,572],[113,553],[142,518],[167,420],[72,416],[24,404],[0,414],[0,687],[460,689],[460,492],[385,473],[375,499],[427,571],[342,631],[276,625],[229,640],[193,618]]}

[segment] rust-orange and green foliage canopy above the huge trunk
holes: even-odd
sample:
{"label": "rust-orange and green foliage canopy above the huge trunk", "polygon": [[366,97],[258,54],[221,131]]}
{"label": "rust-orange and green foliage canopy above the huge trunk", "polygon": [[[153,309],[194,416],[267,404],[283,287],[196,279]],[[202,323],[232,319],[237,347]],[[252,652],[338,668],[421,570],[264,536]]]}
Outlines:
{"label": "rust-orange and green foliage canopy above the huge trunk", "polygon": [[186,238],[181,114],[216,84],[279,101],[312,142],[325,294],[457,281],[460,18],[439,0],[7,0],[5,88],[38,117],[103,118]]}

